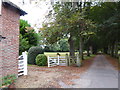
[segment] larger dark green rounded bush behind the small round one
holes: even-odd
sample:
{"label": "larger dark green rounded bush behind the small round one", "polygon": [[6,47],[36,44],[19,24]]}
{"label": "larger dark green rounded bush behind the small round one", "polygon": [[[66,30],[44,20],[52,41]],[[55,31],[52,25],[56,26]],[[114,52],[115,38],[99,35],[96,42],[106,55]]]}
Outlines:
{"label": "larger dark green rounded bush behind the small round one", "polygon": [[35,59],[38,54],[43,54],[44,51],[41,47],[31,47],[28,50],[28,64],[35,65]]}

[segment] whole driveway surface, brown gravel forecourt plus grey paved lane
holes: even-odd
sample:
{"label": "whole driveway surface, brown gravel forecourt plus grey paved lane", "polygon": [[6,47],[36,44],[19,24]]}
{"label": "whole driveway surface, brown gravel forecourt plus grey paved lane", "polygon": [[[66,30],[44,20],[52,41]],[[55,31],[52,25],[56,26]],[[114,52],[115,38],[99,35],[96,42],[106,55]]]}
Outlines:
{"label": "whole driveway surface, brown gravel forecourt plus grey paved lane", "polygon": [[[118,71],[104,55],[84,60],[82,67],[28,66],[16,88],[118,88]],[[74,90],[74,89],[73,89]]]}

